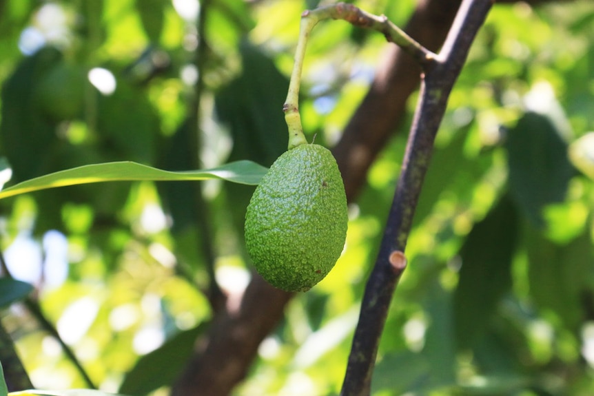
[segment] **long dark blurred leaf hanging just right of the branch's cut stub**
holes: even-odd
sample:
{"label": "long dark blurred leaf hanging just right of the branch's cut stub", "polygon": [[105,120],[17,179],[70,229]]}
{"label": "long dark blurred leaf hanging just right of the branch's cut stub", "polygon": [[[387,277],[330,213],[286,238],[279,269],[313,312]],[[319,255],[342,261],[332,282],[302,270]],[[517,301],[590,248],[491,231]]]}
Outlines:
{"label": "long dark blurred leaf hanging just right of the branch's cut stub", "polygon": [[515,207],[505,196],[464,241],[460,280],[454,293],[456,337],[462,348],[471,346],[484,331],[500,298],[511,287],[517,233]]}

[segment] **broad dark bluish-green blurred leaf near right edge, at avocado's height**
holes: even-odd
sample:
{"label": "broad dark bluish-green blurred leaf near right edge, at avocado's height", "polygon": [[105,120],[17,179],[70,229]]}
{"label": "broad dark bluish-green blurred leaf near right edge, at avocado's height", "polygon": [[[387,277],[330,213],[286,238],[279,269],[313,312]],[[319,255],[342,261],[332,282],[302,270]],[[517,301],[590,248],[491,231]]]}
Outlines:
{"label": "broad dark bluish-green blurred leaf near right edge, at avocado's height", "polygon": [[574,169],[561,132],[546,116],[527,112],[506,141],[509,187],[518,206],[541,227],[545,205],[565,198]]}

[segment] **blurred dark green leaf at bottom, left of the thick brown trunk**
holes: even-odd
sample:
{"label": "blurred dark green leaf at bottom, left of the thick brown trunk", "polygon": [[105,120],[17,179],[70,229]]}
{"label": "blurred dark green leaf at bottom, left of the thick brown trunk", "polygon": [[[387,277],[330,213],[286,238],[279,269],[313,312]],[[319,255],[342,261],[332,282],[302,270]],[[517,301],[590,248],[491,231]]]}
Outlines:
{"label": "blurred dark green leaf at bottom, left of the thick brown trunk", "polygon": [[141,357],[124,377],[119,391],[126,395],[140,396],[172,384],[185,367],[187,359],[192,356],[196,337],[206,328],[205,324],[201,324],[194,329],[182,331]]}

